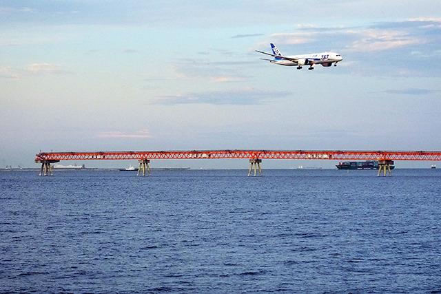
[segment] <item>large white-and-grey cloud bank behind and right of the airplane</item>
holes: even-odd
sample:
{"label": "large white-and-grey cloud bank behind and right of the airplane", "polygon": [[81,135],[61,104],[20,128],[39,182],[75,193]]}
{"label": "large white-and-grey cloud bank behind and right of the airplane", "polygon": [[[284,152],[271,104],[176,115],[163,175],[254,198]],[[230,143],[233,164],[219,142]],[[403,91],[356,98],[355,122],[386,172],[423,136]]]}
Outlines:
{"label": "large white-and-grey cloud bank behind and right of the airplane", "polygon": [[440,36],[441,19],[409,19],[334,27],[298,25],[294,32],[276,32],[269,37],[272,42],[280,45],[303,44],[305,47],[305,44],[309,44],[322,47],[323,44],[331,44],[332,48],[365,53],[387,52],[420,45],[428,45],[429,48],[431,45],[432,50],[439,50]]}

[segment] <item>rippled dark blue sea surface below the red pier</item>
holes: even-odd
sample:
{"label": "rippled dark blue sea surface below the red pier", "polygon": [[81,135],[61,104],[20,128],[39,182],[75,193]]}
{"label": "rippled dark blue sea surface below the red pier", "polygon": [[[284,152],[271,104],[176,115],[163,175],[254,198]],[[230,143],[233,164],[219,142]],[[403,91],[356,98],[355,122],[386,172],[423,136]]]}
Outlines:
{"label": "rippled dark blue sea surface below the red pier", "polygon": [[0,171],[0,293],[441,293],[441,171]]}

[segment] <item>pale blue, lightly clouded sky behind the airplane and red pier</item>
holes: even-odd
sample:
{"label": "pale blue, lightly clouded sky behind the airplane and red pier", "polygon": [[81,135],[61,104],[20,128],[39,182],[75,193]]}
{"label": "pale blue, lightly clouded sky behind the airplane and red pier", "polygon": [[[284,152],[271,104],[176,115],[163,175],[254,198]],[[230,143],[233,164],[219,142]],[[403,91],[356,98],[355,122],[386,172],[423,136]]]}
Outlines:
{"label": "pale blue, lightly clouded sky behind the airplane and red pier", "polygon": [[[3,0],[0,167],[38,167],[40,151],[438,151],[440,16],[433,0]],[[269,43],[343,61],[275,65],[255,52]],[[249,168],[159,161],[150,165]]]}

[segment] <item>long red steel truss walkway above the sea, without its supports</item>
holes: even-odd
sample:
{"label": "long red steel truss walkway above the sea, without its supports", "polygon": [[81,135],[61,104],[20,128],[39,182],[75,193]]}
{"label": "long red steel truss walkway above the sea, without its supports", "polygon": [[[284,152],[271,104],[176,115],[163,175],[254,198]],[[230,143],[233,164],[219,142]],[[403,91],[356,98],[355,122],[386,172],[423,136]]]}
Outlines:
{"label": "long red steel truss walkway above the sea, without its supports", "polygon": [[191,151],[99,151],[41,152],[35,162],[45,160],[123,159],[331,159],[331,160],[441,160],[441,151],[342,151],[342,150],[191,150]]}

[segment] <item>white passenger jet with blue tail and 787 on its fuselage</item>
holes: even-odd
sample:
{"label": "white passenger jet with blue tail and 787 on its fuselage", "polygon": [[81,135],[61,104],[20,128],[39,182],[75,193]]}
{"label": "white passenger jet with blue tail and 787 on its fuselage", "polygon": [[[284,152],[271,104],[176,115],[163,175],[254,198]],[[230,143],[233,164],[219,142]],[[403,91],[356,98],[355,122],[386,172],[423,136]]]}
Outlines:
{"label": "white passenger jet with blue tail and 787 on its fuselage", "polygon": [[342,61],[343,58],[340,54],[335,52],[322,52],[322,53],[312,53],[312,54],[302,54],[302,55],[293,55],[293,56],[283,56],[280,51],[277,49],[276,45],[270,43],[271,49],[273,50],[273,54],[258,51],[256,52],[267,54],[269,56],[274,56],[274,59],[262,59],[269,61],[271,63],[276,63],[278,65],[286,65],[286,66],[294,66],[297,65],[297,69],[301,70],[302,65],[309,65],[308,70],[314,70],[314,65],[321,64],[324,67],[329,67],[334,63],[334,66],[337,66],[337,63]]}

